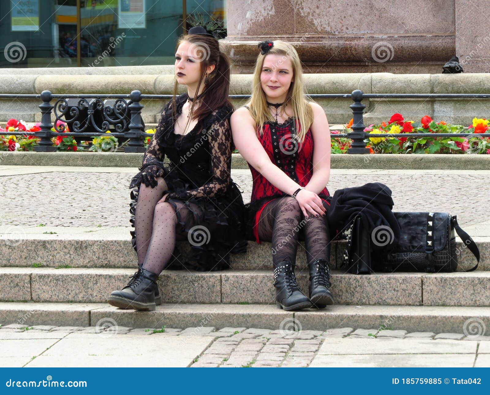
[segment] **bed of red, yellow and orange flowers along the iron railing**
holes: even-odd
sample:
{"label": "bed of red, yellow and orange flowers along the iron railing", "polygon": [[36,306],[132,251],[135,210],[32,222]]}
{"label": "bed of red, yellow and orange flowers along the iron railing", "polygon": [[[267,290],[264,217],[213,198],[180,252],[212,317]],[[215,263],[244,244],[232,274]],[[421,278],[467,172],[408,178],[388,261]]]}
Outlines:
{"label": "bed of red, yellow and orange flowers along the iron railing", "polygon": [[[347,133],[352,132],[351,119],[345,125]],[[444,121],[434,122],[428,115],[422,117],[420,125],[414,125],[414,121],[405,121],[401,114],[393,114],[388,122],[382,122],[380,125],[370,124],[364,129],[369,134],[374,133],[403,133],[407,137],[368,137],[364,141],[369,148],[369,153],[481,153],[490,154],[490,137],[438,137],[438,133],[486,133],[490,126],[489,121],[485,118],[474,118],[473,123],[469,126],[452,125]],[[56,128],[65,132],[70,129],[66,123],[56,122]],[[40,138],[33,135],[14,136],[8,135],[8,132],[36,132],[41,130],[39,123],[25,123],[11,119],[7,122],[5,128],[0,127],[0,150],[1,151],[33,151],[38,145]],[[54,127],[53,132],[58,132]],[[146,130],[146,133],[154,133],[154,129]],[[331,130],[332,135],[344,133],[339,130]],[[415,137],[411,133],[425,133],[427,136]],[[151,137],[145,137],[144,147],[148,147]],[[110,131],[106,134],[95,137],[92,141],[82,141],[78,146],[77,142],[70,136],[57,136],[51,139],[53,144],[60,151],[98,151],[114,152],[122,149],[127,141],[120,144],[117,137],[111,135]],[[350,148],[352,140],[346,137],[336,138],[332,136],[331,152],[346,153]],[[238,150],[234,150],[237,153]]]}

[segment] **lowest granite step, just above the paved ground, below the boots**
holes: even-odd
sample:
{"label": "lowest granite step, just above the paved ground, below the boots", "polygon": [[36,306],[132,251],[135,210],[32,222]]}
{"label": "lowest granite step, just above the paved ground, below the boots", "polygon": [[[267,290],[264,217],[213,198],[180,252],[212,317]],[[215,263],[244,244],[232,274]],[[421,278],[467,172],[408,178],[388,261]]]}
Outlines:
{"label": "lowest granite step, just above the paved ground, below the boots", "polygon": [[[111,321],[114,320],[114,321]],[[490,327],[489,307],[355,306],[287,312],[275,304],[168,303],[155,311],[124,310],[104,303],[0,302],[0,324],[97,326],[115,322],[132,328],[245,327],[321,330],[330,328],[403,329],[408,332],[473,333],[470,324]],[[1,329],[0,329],[1,333]],[[368,339],[367,339],[368,340]]]}

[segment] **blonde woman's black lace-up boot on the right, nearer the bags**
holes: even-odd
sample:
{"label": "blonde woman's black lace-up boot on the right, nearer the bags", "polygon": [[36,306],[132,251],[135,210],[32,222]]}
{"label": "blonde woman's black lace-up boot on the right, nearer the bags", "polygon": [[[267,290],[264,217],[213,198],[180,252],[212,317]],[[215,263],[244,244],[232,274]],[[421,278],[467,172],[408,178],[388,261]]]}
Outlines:
{"label": "blonde woman's black lace-up boot on the right, nearer the bags", "polygon": [[308,293],[313,307],[323,308],[334,304],[334,297],[330,292],[330,268],[325,259],[313,259],[308,265],[310,270],[310,285]]}

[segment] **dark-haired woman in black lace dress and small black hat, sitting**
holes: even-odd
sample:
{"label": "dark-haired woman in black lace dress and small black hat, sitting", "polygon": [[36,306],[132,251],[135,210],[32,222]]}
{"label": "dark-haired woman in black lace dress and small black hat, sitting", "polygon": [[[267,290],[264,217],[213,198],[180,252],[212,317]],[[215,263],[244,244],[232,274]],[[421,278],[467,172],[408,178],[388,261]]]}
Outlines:
{"label": "dark-haired woman in black lace dress and small black hat, sitting", "polygon": [[[193,27],[179,39],[175,78],[173,98],[129,186],[138,271],[111,293],[113,306],[155,310],[162,303],[156,280],[170,264],[224,270],[230,252],[246,251],[245,206],[230,176],[229,61],[206,28]],[[187,93],[176,97],[178,84]],[[190,243],[184,258],[175,252],[179,240]]]}

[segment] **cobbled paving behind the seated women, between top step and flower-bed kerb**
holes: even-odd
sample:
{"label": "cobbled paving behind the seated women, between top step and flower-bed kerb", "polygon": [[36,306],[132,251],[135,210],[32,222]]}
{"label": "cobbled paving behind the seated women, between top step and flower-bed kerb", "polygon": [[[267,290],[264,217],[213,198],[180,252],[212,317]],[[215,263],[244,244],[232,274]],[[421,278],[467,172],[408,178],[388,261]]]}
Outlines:
{"label": "cobbled paving behind the seated women, between top step and flower-bed kerb", "polygon": [[[12,166],[11,168],[14,168]],[[36,226],[100,226],[129,224],[129,182],[137,169],[102,173],[71,171],[8,175],[2,181],[3,204],[0,224]],[[95,168],[96,169],[96,168]],[[40,167],[42,170],[42,167]],[[392,190],[393,211],[444,211],[458,215],[461,225],[477,224],[484,216],[490,183],[488,171],[336,170],[327,188],[382,182]],[[248,170],[233,170],[233,180],[250,200],[252,187]]]}

